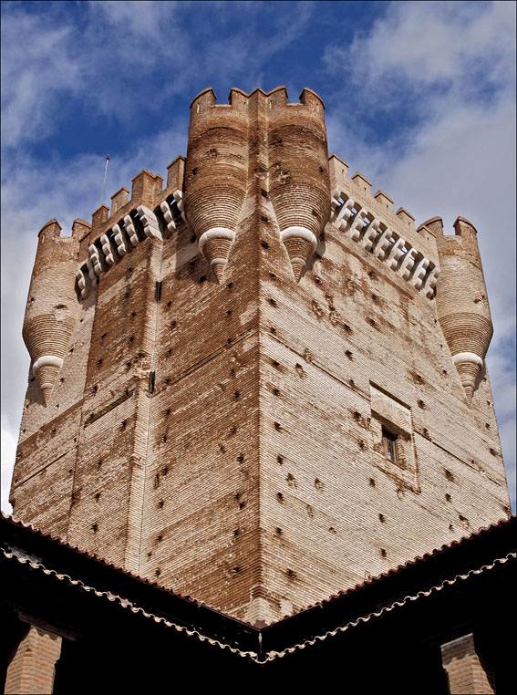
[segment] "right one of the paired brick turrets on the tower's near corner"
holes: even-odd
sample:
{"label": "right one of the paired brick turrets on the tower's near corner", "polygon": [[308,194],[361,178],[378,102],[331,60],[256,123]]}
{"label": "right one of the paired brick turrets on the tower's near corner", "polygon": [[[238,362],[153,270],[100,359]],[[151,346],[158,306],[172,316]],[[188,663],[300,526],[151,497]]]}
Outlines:
{"label": "right one of the paired brick turrets on the tower's near corner", "polygon": [[330,214],[325,105],[307,88],[300,104],[285,88],[270,95],[269,194],[298,280]]}

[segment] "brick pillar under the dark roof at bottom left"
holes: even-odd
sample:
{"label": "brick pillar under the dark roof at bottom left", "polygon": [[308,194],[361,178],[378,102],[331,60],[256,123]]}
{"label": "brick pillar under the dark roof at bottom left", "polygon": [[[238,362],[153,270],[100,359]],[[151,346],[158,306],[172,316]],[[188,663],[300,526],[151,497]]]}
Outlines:
{"label": "brick pillar under the dark roof at bottom left", "polygon": [[31,625],[7,667],[5,695],[51,693],[60,653],[60,637]]}

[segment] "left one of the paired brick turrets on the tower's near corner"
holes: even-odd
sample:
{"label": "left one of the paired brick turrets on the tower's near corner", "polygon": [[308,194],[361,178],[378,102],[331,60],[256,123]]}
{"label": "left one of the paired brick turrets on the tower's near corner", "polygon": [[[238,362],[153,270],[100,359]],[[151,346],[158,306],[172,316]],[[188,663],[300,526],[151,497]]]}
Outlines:
{"label": "left one of the paired brick turrets on the tower's near corner", "polygon": [[207,88],[191,103],[185,213],[219,281],[246,194],[247,99],[232,89],[230,104],[216,106],[215,94]]}

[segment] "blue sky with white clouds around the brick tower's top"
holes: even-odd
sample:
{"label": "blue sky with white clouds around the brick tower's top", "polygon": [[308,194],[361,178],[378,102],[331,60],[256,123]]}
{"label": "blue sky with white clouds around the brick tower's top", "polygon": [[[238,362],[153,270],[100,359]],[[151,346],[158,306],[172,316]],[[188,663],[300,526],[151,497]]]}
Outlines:
{"label": "blue sky with white clouds around the brick tower's top", "polygon": [[21,338],[37,232],[69,233],[144,167],[185,154],[212,86],[302,88],[329,151],[417,223],[478,229],[487,362],[515,511],[515,3],[2,3],[2,435],[6,503],[29,358]]}

